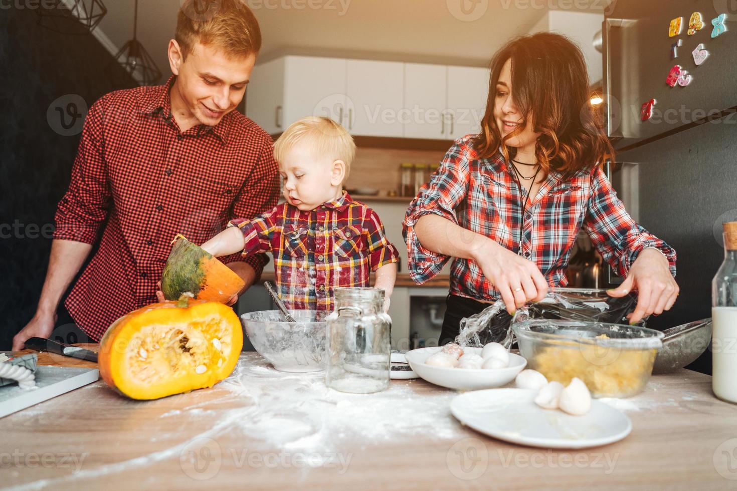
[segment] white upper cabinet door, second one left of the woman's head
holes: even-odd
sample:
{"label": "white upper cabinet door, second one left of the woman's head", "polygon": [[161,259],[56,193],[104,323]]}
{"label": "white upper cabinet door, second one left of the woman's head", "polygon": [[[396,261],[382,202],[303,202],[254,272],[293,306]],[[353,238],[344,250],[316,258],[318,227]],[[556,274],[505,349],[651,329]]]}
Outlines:
{"label": "white upper cabinet door, second one left of the woman's head", "polygon": [[[405,138],[450,138],[444,65],[405,63]],[[404,121],[402,121],[404,122]]]}

